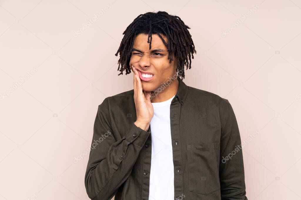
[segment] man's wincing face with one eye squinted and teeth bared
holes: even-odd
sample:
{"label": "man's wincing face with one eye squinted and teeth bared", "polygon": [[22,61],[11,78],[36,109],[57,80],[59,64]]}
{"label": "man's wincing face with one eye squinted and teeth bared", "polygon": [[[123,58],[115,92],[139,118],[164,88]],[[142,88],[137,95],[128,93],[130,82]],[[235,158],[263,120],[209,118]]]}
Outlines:
{"label": "man's wincing face with one eye squinted and teeth bared", "polygon": [[[147,37],[147,34],[136,36],[130,67],[132,69],[133,65],[138,70],[143,90],[154,91],[169,80],[169,78],[172,81],[174,80],[176,62],[174,57],[174,60],[169,63],[167,48],[157,34],[152,35],[151,49],[149,49]],[[165,36],[162,37],[167,43],[167,38]],[[153,76],[146,75],[143,77],[143,74],[151,74]]]}

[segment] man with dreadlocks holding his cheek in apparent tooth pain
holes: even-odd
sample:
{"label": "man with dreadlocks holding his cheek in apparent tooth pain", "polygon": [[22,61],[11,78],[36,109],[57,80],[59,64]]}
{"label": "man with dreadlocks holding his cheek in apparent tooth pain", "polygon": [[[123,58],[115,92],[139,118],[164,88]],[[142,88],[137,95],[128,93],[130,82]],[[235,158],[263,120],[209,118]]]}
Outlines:
{"label": "man with dreadlocks holding his cheek in apparent tooth pain", "polygon": [[183,82],[196,53],[188,29],[159,11],[124,31],[119,75],[132,70],[134,89],[98,106],[85,173],[90,199],[247,200],[231,104]]}

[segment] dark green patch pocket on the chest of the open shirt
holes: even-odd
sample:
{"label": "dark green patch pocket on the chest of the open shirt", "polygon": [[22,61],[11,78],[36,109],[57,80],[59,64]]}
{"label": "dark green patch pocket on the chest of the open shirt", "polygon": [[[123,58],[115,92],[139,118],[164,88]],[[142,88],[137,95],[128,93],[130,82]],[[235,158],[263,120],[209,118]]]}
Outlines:
{"label": "dark green patch pocket on the chest of the open shirt", "polygon": [[187,144],[189,191],[209,195],[220,190],[219,145]]}

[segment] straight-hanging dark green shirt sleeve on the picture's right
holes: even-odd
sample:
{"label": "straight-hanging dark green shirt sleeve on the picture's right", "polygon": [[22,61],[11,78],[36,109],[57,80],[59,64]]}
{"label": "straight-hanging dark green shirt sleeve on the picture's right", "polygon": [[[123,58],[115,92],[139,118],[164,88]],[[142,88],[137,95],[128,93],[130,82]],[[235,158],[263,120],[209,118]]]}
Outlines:
{"label": "straight-hanging dark green shirt sleeve on the picture's right", "polygon": [[240,133],[233,108],[227,99],[219,104],[221,142],[219,178],[222,200],[247,200]]}

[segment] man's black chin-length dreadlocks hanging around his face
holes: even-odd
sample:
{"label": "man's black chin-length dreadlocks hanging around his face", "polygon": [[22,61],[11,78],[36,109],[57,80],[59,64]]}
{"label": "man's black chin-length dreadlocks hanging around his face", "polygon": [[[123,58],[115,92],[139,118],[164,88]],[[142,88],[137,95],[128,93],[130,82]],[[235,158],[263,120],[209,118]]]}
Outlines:
{"label": "man's black chin-length dreadlocks hanging around his face", "polygon": [[[187,70],[189,62],[190,69],[191,58],[193,59],[193,53],[196,53],[195,46],[188,29],[190,28],[185,25],[180,17],[169,15],[165,11],[140,14],[123,32],[124,37],[115,54],[117,56],[119,52],[120,55],[117,70],[119,70],[120,65],[121,69],[119,70],[120,73],[118,76],[123,74],[124,70],[126,70],[126,75],[131,73],[129,62],[132,55],[134,40],[138,34],[142,33],[148,34],[147,43],[150,43],[149,49],[151,49],[152,34],[158,34],[169,52],[169,63],[173,61],[172,53],[174,53],[177,61],[176,72],[181,70],[181,73],[178,72],[178,77],[181,77],[181,80],[183,80],[183,78],[185,78],[184,65],[186,65]],[[162,35],[167,37],[168,43],[165,42]],[[149,40],[149,38],[151,38],[151,40]]]}

